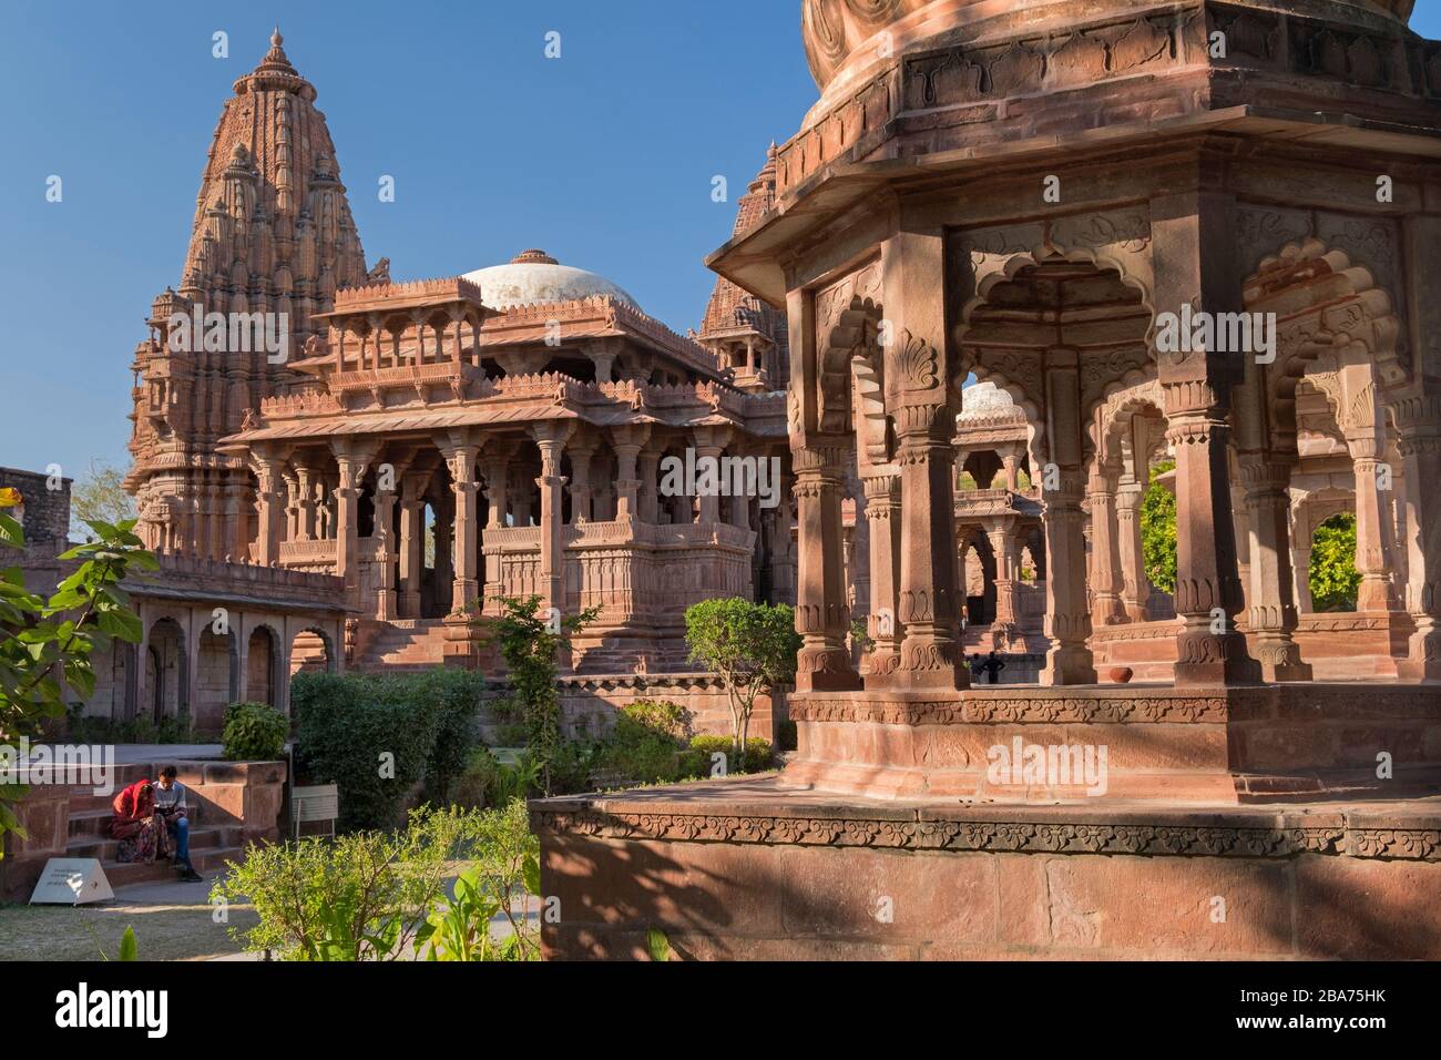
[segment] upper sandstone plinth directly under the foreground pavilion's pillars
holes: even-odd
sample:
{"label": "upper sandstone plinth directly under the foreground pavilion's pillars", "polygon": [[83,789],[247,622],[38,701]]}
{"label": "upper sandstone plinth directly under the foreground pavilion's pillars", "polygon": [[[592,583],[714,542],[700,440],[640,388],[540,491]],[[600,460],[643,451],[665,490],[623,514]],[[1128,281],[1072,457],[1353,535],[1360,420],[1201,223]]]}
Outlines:
{"label": "upper sandstone plinth directly under the foreground pavilion's pillars", "polygon": [[[1441,792],[1441,694],[1406,685],[974,688],[795,694],[794,783],[882,799],[1398,798]],[[1019,741],[1019,744],[1017,744]],[[1101,790],[1061,769],[999,783],[994,748],[1101,761]],[[1392,776],[1378,777],[1378,756]],[[1059,764],[1059,763],[1058,763]]]}

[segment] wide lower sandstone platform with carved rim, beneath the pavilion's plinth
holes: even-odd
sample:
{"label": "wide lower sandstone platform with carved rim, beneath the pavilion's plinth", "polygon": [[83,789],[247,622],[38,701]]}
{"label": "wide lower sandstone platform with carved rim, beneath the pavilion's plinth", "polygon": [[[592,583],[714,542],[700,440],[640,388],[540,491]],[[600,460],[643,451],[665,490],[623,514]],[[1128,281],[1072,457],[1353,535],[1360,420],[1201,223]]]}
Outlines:
{"label": "wide lower sandstone platform with carved rim, beneath the pavilion's plinth", "polygon": [[780,777],[532,803],[550,959],[1437,959],[1441,800],[839,800]]}

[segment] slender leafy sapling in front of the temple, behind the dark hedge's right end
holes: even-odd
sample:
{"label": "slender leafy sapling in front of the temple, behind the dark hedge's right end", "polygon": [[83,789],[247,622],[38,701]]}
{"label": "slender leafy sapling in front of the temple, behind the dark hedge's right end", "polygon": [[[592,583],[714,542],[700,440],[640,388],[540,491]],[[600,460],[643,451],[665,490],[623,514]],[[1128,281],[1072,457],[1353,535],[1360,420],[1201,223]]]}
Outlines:
{"label": "slender leafy sapling in front of the temple, behind the dark hedge's right end", "polygon": [[569,650],[571,637],[599,614],[589,609],[581,614],[548,622],[540,614],[540,597],[500,597],[501,616],[496,622],[500,656],[510,671],[514,708],[526,725],[526,747],[540,763],[542,790],[553,790],[553,763],[562,743],[561,695],[556,691],[556,655]]}

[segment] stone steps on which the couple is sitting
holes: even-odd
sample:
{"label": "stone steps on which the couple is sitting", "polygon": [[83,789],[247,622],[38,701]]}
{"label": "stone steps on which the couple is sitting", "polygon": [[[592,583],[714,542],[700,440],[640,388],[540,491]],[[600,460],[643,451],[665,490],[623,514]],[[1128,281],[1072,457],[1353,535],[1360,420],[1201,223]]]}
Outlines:
{"label": "stone steps on which the couple is sitting", "polygon": [[[150,864],[121,864],[115,861],[120,841],[110,838],[110,821],[114,816],[112,802],[127,785],[153,773],[150,766],[115,766],[115,792],[95,795],[89,785],[71,786],[69,839],[65,845],[68,858],[98,858],[111,887],[137,883],[164,883],[177,878],[170,861]],[[184,783],[182,780],[182,783]],[[225,868],[228,861],[241,861],[245,847],[244,829],[238,825],[208,823],[205,805],[190,793],[186,800],[190,818],[190,864],[208,878]],[[200,884],[196,884],[200,887]]]}

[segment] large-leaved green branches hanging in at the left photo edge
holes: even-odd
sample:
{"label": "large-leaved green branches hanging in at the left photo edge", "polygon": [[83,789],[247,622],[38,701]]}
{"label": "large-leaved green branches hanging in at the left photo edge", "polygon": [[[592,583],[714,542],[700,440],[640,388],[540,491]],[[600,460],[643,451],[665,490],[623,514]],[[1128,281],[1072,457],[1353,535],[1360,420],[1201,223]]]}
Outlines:
{"label": "large-leaved green branches hanging in at the left photo edge", "polygon": [[[3,511],[19,503],[17,490],[0,490],[0,549],[24,548],[24,531]],[[75,568],[49,599],[24,587],[19,567],[0,570],[0,744],[14,746],[23,736],[37,736],[46,720],[63,717],[65,686],[89,698],[97,650],[115,639],[140,643],[140,619],[120,583],[134,570],[153,571],[159,564],[134,525],[91,522],[97,541],[61,554]],[[24,790],[23,785],[0,785],[0,857],[6,832],[24,836],[14,812]]]}

